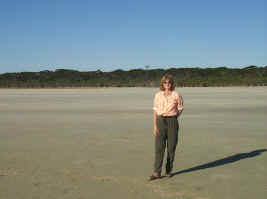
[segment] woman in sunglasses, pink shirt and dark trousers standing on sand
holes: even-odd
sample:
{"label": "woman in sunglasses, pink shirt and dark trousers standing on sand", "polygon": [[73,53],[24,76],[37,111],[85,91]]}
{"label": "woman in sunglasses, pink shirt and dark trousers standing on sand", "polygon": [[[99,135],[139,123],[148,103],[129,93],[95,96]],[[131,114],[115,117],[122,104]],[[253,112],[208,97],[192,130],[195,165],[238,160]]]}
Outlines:
{"label": "woman in sunglasses, pink shirt and dark trousers standing on sand", "polygon": [[171,177],[176,145],[178,143],[179,124],[177,117],[183,111],[182,96],[175,91],[175,82],[171,75],[164,75],[160,81],[160,91],[154,97],[154,135],[155,162],[154,171],[149,180],[161,177],[164,152],[167,145],[166,177]]}

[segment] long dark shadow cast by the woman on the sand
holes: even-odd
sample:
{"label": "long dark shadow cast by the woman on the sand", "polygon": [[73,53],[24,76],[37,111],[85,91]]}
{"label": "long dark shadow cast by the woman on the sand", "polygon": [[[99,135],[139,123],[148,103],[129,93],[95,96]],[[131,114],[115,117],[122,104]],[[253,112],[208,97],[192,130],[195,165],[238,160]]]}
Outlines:
{"label": "long dark shadow cast by the woman on the sand", "polygon": [[245,158],[253,158],[255,156],[260,155],[261,153],[263,153],[265,151],[267,151],[267,149],[259,149],[259,150],[251,151],[249,153],[238,153],[238,154],[226,157],[226,158],[215,160],[213,162],[208,162],[206,164],[202,164],[202,165],[195,166],[195,167],[192,167],[192,168],[189,168],[189,169],[184,169],[182,171],[174,172],[172,174],[172,176],[175,176],[175,175],[178,175],[178,174],[182,174],[182,173],[188,173],[188,172],[192,172],[192,171],[197,171],[197,170],[201,170],[201,169],[208,169],[208,168],[212,168],[212,167],[218,167],[218,166],[222,166],[222,165],[225,165],[225,164],[230,164],[230,163],[233,163],[233,162],[245,159]]}

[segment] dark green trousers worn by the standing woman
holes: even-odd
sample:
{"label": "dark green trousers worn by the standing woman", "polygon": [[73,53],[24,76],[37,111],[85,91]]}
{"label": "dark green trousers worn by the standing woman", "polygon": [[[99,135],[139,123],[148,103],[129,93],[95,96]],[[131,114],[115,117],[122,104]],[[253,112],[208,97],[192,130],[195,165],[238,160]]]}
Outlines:
{"label": "dark green trousers worn by the standing woman", "polygon": [[176,116],[158,116],[156,122],[159,134],[155,136],[154,172],[161,174],[165,148],[167,145],[166,173],[170,173],[173,168],[175,150],[178,143],[179,124]]}

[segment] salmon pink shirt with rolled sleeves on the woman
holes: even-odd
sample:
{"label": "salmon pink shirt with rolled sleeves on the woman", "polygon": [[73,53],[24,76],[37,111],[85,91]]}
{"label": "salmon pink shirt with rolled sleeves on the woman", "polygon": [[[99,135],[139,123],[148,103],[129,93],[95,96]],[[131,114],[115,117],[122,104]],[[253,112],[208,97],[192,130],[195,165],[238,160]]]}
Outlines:
{"label": "salmon pink shirt with rolled sleeves on the woman", "polygon": [[156,111],[157,115],[174,116],[183,109],[183,98],[178,92],[172,91],[169,96],[164,96],[164,91],[155,94],[153,110]]}

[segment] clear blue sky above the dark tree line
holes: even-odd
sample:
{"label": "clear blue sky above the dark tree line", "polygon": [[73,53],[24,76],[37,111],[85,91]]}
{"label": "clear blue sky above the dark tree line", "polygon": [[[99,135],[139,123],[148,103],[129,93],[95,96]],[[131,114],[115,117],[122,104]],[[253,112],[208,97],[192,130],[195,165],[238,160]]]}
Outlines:
{"label": "clear blue sky above the dark tree line", "polygon": [[0,3],[0,73],[267,65],[265,0]]}

